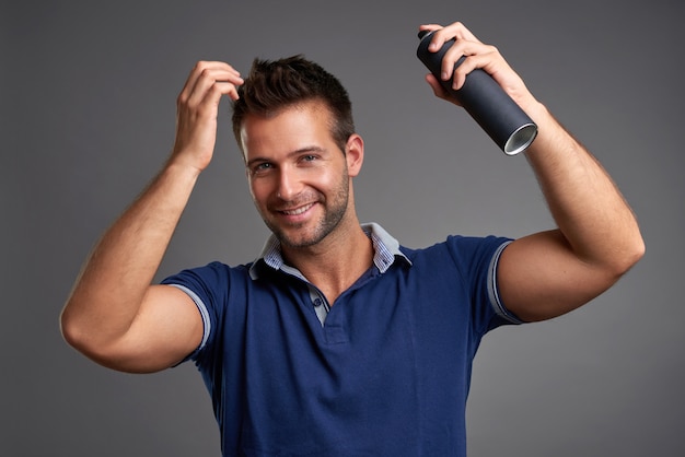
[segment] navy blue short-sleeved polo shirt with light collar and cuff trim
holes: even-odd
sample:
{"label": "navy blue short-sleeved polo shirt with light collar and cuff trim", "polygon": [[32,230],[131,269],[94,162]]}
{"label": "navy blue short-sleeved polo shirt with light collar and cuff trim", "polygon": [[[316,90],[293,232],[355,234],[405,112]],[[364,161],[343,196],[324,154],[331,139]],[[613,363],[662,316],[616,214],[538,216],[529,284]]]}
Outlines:
{"label": "navy blue short-sleeved polo shirt with light collar and cuff trim", "polygon": [[465,408],[481,337],[520,324],[499,301],[509,243],[450,236],[408,249],[364,225],[374,265],[334,306],[270,238],[252,263],[163,281],[205,324],[189,356],[227,456],[465,456]]}

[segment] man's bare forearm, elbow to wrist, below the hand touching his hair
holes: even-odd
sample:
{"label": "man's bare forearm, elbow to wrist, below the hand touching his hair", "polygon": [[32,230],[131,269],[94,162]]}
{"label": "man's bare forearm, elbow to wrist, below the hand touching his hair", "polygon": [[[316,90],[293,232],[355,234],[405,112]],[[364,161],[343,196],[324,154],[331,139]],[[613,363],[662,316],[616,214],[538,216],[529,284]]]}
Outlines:
{"label": "man's bare forearm, elbow to wrist, below the hand touching his hair", "polygon": [[96,245],[61,317],[72,343],[105,345],[139,313],[198,171],[167,165]]}

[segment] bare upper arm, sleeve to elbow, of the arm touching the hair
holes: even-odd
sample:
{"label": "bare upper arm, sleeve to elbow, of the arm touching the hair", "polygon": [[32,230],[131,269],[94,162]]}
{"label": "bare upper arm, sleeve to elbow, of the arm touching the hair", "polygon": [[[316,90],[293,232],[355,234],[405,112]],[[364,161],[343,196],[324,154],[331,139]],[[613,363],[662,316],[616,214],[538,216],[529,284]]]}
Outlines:
{"label": "bare upper arm, sleeve to elbow, of the arm touching the hair", "polygon": [[150,373],[173,366],[199,345],[204,324],[195,302],[171,285],[151,285],[129,330],[106,349],[105,366]]}

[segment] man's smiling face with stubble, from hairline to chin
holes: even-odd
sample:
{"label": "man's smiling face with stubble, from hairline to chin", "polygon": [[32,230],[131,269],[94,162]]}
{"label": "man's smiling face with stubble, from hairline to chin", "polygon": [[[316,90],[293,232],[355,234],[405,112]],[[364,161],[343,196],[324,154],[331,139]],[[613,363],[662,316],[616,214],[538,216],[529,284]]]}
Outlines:
{"label": "man's smiling face with stubble, from hairline to chin", "polygon": [[241,137],[249,189],[266,225],[283,246],[313,246],[346,215],[349,175],[320,102],[276,116],[247,116]]}

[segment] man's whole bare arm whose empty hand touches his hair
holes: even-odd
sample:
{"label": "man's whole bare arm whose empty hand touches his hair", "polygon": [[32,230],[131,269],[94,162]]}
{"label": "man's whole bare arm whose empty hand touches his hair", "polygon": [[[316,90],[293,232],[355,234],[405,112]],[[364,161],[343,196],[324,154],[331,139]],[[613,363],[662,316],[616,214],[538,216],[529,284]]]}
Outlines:
{"label": "man's whole bare arm whose empty hand touches his hair", "polygon": [[237,97],[237,71],[198,62],[177,99],[176,140],[163,169],[86,260],[60,317],[65,339],[126,372],[166,368],[197,345],[202,323],[175,288],[151,285],[195,183],[211,161],[222,95]]}

